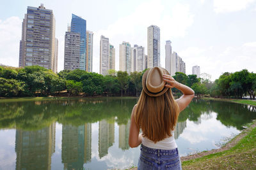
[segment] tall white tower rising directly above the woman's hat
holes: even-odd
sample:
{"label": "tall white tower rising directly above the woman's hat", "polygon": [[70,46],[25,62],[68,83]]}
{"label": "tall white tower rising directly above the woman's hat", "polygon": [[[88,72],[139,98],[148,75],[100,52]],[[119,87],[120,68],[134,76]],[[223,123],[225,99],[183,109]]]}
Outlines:
{"label": "tall white tower rising directly above the woman's hat", "polygon": [[156,25],[148,27],[148,59],[147,67],[160,66],[160,29]]}

